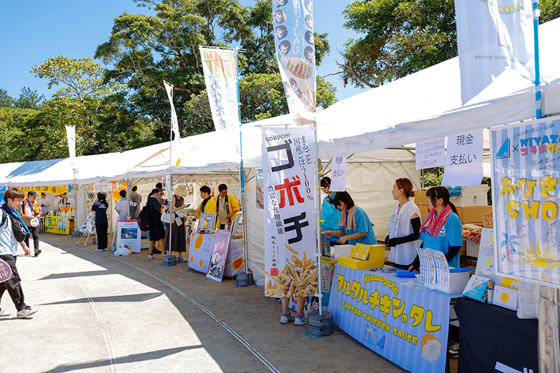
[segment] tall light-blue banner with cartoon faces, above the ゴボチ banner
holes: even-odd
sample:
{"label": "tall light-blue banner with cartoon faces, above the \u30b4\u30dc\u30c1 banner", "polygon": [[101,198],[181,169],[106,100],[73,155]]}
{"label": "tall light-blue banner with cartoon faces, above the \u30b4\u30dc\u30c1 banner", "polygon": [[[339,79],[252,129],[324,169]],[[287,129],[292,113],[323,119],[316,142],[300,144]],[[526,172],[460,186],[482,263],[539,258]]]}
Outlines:
{"label": "tall light-blue banner with cartoon faces, above the \u30b4\u30dc\u30c1 banner", "polygon": [[272,0],[274,46],[290,113],[311,118],[316,108],[313,0]]}

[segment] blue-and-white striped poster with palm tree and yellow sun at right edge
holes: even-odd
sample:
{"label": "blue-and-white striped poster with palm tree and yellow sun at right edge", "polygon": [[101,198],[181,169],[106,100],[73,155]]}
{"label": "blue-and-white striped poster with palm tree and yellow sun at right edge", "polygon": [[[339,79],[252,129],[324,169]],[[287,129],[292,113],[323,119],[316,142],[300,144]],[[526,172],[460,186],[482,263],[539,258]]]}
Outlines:
{"label": "blue-and-white striped poster with palm tree and yellow sun at right edge", "polygon": [[560,288],[560,120],[491,132],[494,266]]}

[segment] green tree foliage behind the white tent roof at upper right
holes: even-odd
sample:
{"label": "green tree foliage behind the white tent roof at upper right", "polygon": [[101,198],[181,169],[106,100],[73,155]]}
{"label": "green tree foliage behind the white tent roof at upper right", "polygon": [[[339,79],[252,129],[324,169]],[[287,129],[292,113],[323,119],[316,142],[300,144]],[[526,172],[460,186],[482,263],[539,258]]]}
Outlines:
{"label": "green tree foliage behind the white tent roof at upper right", "polygon": [[[560,1],[542,0],[540,23],[560,15]],[[356,0],[344,27],[363,35],[342,50],[345,83],[378,87],[457,55],[454,0]]]}

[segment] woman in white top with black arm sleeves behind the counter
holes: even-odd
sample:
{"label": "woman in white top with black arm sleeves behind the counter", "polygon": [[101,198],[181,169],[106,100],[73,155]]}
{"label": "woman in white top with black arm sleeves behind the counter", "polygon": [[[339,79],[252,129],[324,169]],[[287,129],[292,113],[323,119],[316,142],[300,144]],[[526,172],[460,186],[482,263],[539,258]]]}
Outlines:
{"label": "woman in white top with black arm sleeves behind the counter", "polygon": [[393,185],[393,199],[398,204],[391,213],[385,246],[391,248],[389,260],[393,261],[393,267],[401,269],[409,269],[416,257],[416,247],[420,245],[420,209],[410,197],[414,197],[412,182],[398,178]]}

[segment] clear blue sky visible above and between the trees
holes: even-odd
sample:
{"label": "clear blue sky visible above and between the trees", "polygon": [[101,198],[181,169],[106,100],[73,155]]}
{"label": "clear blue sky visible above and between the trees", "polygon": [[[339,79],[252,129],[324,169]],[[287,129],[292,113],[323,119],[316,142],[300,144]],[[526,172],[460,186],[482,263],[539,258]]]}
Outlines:
{"label": "clear blue sky visible above and between the trees", "polygon": [[[254,1],[241,0],[244,6]],[[317,69],[320,76],[338,71],[335,59],[348,38],[356,38],[353,31],[342,27],[342,10],[349,0],[321,0],[314,6],[315,31],[328,32],[330,55]],[[148,13],[132,0],[97,1],[13,1],[0,0],[0,88],[12,97],[20,95],[22,87],[30,87],[50,98],[57,90],[47,87],[45,79],[35,78],[29,71],[49,57],[93,58],[97,45],[111,35],[113,20],[123,13]],[[102,64],[101,61],[96,61]],[[344,99],[363,90],[343,87],[338,76],[326,78],[337,89],[337,98]]]}

